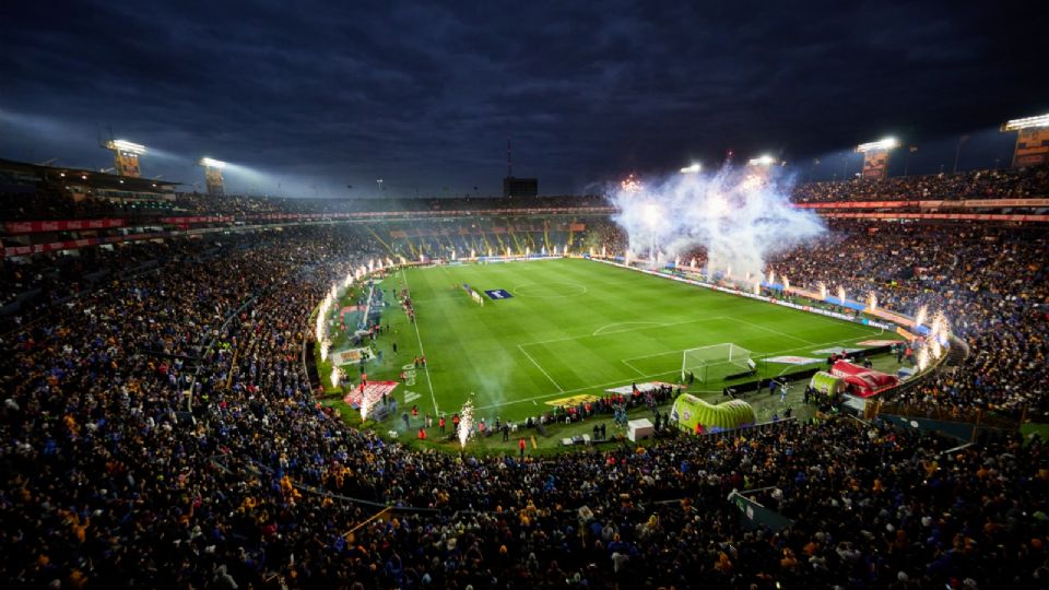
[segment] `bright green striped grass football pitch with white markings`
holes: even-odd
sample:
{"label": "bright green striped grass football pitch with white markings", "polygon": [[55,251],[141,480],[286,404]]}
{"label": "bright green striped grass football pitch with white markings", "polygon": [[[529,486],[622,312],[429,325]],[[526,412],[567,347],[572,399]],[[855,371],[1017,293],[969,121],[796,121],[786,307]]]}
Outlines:
{"label": "bright green striped grass football pitch with white markings", "polygon": [[[508,298],[478,305],[458,285]],[[750,351],[759,377],[806,368],[775,356],[826,358],[828,349],[895,339],[876,328],[718,293],[603,264],[565,259],[414,268],[382,285],[408,287],[416,322],[393,307],[392,333],[378,345],[396,378],[404,363],[425,355],[403,394],[420,412],[458,412],[473,400],[478,417],[523,420],[576,396],[601,394],[632,382],[676,382],[683,351],[731,343]],[[399,354],[391,355],[397,342]],[[808,365],[808,367],[814,364]],[[716,379],[693,391],[720,391]],[[400,394],[398,396],[401,397]]]}

